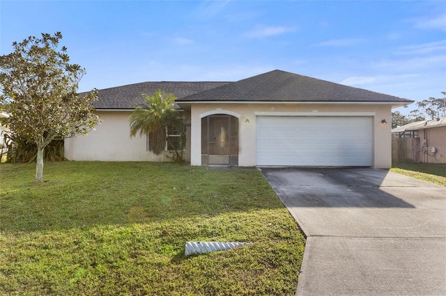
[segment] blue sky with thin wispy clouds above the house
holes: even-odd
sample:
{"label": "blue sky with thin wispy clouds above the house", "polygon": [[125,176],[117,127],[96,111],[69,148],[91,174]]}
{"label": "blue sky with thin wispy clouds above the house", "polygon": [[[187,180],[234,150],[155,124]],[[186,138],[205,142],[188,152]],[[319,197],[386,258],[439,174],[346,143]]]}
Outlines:
{"label": "blue sky with thin wispy clouds above the house", "polygon": [[273,69],[413,100],[446,91],[446,1],[0,0],[0,54],[56,31],[86,68],[79,91]]}

